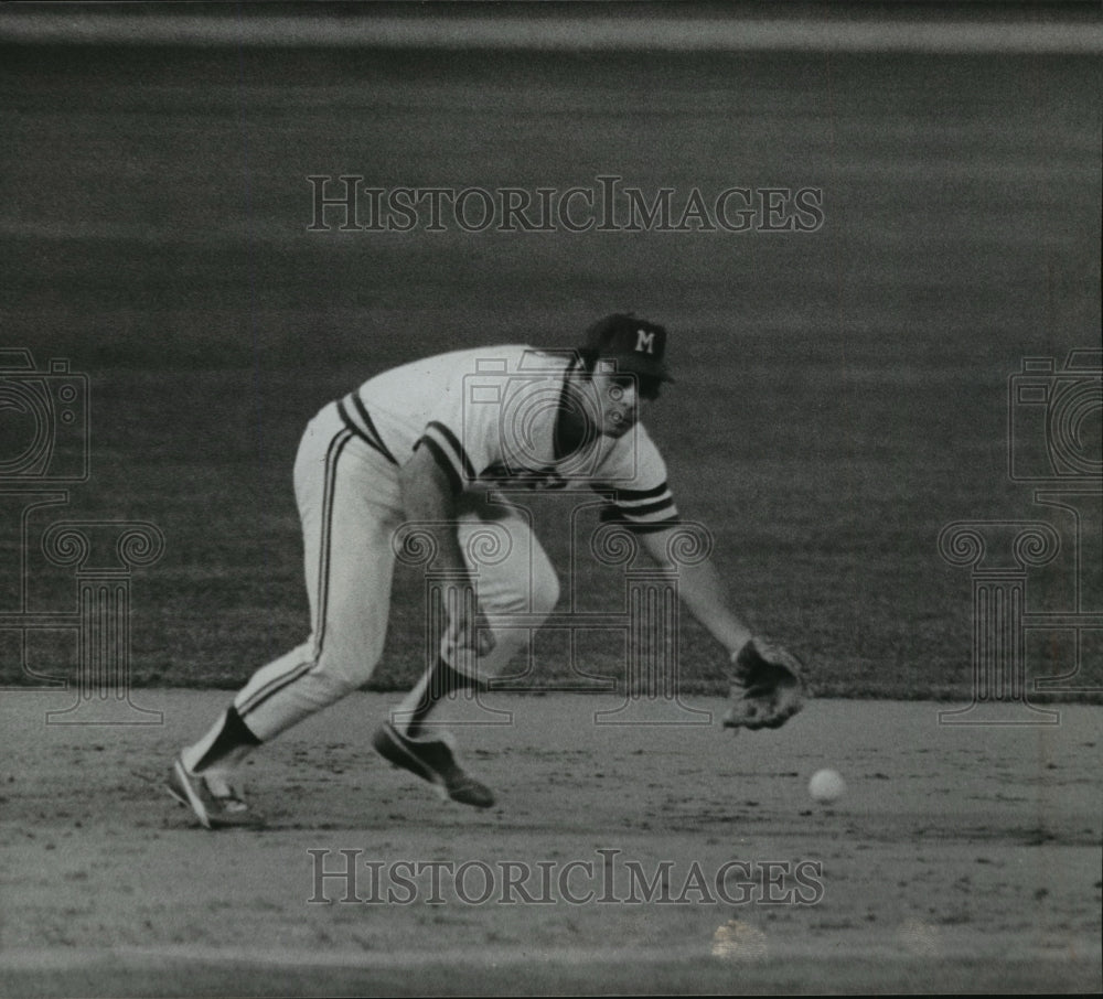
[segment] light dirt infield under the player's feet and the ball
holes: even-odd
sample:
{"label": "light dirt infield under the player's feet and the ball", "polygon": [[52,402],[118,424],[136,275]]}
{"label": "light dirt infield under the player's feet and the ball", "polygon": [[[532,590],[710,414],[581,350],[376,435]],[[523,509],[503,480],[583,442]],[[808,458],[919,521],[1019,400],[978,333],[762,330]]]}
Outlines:
{"label": "light dirt infield under the player's feet and the ball", "polygon": [[[1099,708],[983,728],[820,700],[733,738],[644,723],[704,717],[666,701],[613,726],[614,700],[495,697],[505,723],[452,709],[499,792],[479,813],[374,756],[394,698],[354,695],[255,758],[264,828],[211,834],[161,778],[224,694],[138,691],[160,726],[47,726],[65,698],[0,702],[8,996],[1103,984]],[[833,806],[805,791],[823,765],[849,784]]]}

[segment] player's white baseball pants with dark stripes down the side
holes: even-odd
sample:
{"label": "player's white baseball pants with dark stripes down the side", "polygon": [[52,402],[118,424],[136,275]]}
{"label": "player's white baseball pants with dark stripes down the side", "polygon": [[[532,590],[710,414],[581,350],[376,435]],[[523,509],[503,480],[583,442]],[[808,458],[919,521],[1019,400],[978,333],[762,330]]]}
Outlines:
{"label": "player's white baseball pants with dark stripes down the side", "polygon": [[[390,611],[395,531],[403,525],[398,469],[350,430],[331,404],[308,425],[295,463],[295,493],[302,522],[310,637],[263,666],[234,698],[249,730],[267,741],[333,703],[372,676],[383,654]],[[461,502],[457,531],[465,541],[488,524],[474,504]],[[508,538],[507,555],[478,567],[482,609],[494,614],[546,616],[558,599],[558,580],[528,524],[499,511],[493,528]],[[473,568],[470,567],[469,568]],[[494,649],[478,660],[482,677],[496,676],[531,642],[529,629],[494,629]],[[426,641],[424,635],[410,636]],[[441,643],[446,662],[457,651]]]}

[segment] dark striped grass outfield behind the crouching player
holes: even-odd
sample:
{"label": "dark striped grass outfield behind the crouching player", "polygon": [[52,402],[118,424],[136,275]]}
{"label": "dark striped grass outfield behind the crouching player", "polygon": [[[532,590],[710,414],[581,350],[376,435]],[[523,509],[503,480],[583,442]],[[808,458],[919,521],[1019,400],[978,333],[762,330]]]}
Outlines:
{"label": "dark striped grass outfield behind the crouching player", "polygon": [[[1071,530],[1008,479],[1007,387],[1025,356],[1097,345],[1101,76],[1097,60],[1027,56],[0,52],[17,195],[0,205],[3,344],[90,377],[93,476],[64,516],[167,538],[133,584],[136,681],[236,687],[304,637],[290,474],[323,402],[428,352],[569,345],[634,309],[674,331],[678,385],[645,420],[752,625],[804,654],[825,694],[966,696],[970,580],[939,556],[940,529]],[[528,191],[617,174],[677,198],[813,186],[824,224],[307,232],[306,178],[341,173]],[[32,534],[58,515],[32,515]],[[563,511],[542,500],[536,515],[565,568]],[[71,579],[38,558],[32,601],[64,609]],[[1032,606],[1070,608],[1071,558],[1031,577]],[[1097,611],[1099,563],[1082,568]],[[581,571],[592,608],[614,606],[617,586]],[[373,686],[419,668],[419,595],[400,573]],[[1092,699],[1097,635],[1070,681]],[[25,683],[3,637],[0,679]],[[549,684],[570,679],[558,641],[540,640]],[[1035,634],[1030,676],[1067,673],[1070,654],[1068,633]],[[622,669],[612,644],[587,655]],[[41,674],[72,658],[71,641],[29,649]],[[688,688],[720,689],[692,624],[683,662]]]}

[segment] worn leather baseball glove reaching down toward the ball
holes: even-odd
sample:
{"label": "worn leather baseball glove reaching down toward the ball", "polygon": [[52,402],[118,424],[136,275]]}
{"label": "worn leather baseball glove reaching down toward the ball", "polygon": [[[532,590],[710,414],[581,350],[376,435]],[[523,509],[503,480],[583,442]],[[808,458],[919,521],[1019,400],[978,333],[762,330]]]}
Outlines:
{"label": "worn leather baseball glove reaching down toward the ball", "polygon": [[731,665],[726,729],[779,729],[804,707],[804,666],[791,652],[751,641],[731,657]]}

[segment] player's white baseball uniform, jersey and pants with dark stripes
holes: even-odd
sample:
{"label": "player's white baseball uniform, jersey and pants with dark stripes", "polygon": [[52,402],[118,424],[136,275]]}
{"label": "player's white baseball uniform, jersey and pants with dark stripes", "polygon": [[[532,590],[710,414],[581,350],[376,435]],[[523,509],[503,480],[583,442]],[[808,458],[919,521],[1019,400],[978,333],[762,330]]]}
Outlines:
{"label": "player's white baseball uniform, jersey and pants with dark stripes", "polygon": [[[458,351],[384,372],[311,420],[295,463],[295,490],[312,633],[261,667],[234,698],[259,740],[371,677],[386,634],[395,533],[406,519],[398,471],[418,448],[431,449],[458,496],[461,550],[468,552],[467,541],[491,520],[508,536],[507,555],[478,567],[479,603],[496,640],[478,659],[482,677],[500,674],[533,632],[495,626],[495,615],[543,620],[559,592],[526,519],[507,503],[486,502],[488,491],[589,485],[610,491],[608,515],[630,529],[663,529],[676,520],[665,465],[642,425],[621,438],[598,437],[577,453],[556,453],[564,380],[577,364],[570,352],[525,345]],[[440,654],[464,668],[447,642]]]}

